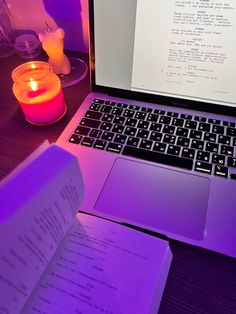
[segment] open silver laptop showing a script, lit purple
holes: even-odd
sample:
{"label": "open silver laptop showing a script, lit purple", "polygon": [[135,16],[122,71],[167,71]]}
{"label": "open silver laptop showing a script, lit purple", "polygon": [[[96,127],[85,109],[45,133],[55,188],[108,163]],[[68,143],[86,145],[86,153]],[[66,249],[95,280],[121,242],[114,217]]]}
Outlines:
{"label": "open silver laptop showing a script, lit purple", "polygon": [[92,91],[57,143],[82,210],[236,257],[236,10],[89,1]]}

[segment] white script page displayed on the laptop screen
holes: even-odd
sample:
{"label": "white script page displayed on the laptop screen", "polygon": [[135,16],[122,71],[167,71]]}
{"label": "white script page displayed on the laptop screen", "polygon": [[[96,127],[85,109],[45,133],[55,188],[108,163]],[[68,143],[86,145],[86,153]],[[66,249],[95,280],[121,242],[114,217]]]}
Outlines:
{"label": "white script page displayed on the laptop screen", "polygon": [[236,105],[235,0],[137,0],[132,89]]}

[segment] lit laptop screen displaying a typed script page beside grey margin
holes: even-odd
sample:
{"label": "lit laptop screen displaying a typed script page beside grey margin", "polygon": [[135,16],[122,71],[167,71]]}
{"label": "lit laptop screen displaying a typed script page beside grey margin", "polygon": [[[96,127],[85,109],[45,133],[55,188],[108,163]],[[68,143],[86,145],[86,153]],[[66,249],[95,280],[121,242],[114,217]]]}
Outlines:
{"label": "lit laptop screen displaying a typed script page beside grey margin", "polygon": [[235,0],[93,2],[95,85],[236,108]]}

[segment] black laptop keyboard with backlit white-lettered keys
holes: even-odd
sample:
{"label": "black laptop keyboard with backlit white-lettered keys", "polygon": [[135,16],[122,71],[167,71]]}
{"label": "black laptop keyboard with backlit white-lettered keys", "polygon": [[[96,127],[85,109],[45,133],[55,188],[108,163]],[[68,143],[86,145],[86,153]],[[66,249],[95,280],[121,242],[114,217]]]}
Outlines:
{"label": "black laptop keyboard with backlit white-lettered keys", "polygon": [[94,99],[70,143],[236,179],[236,125]]}

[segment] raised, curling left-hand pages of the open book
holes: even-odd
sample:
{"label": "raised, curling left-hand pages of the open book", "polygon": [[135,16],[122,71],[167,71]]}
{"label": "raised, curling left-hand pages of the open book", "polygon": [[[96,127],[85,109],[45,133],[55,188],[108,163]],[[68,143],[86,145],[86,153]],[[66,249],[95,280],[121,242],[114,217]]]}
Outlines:
{"label": "raised, curling left-hand pages of the open book", "polygon": [[[60,161],[56,176],[52,156]],[[78,165],[63,156],[50,149],[43,162],[29,164],[0,190],[0,313],[21,311],[75,219],[82,193]]]}

